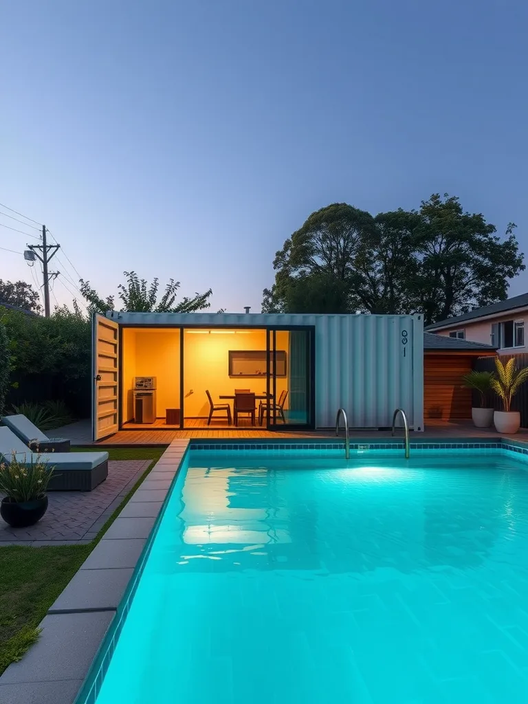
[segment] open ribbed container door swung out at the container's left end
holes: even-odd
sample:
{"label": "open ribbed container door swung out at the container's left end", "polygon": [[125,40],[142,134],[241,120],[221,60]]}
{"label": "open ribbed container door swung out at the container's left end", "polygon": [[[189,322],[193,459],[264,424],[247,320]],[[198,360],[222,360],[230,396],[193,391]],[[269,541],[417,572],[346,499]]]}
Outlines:
{"label": "open ribbed container door swung out at the container's left end", "polygon": [[92,438],[119,429],[119,326],[103,315],[92,320]]}

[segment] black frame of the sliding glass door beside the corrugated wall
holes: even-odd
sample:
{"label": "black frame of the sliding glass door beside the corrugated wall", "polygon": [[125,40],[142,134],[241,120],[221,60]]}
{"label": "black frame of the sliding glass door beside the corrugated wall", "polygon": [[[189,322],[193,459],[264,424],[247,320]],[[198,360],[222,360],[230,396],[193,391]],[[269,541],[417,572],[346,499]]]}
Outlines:
{"label": "black frame of the sliding glass door beside the corrugated wall", "polygon": [[[307,422],[306,423],[277,423],[275,408],[270,413],[270,401],[277,399],[277,332],[306,332],[308,344],[306,345],[306,383],[308,386]],[[291,360],[288,360],[288,370]],[[273,372],[272,372],[273,369]],[[288,378],[288,377],[287,377]],[[315,325],[267,325],[266,326],[266,429],[280,430],[313,430],[315,429]]]}

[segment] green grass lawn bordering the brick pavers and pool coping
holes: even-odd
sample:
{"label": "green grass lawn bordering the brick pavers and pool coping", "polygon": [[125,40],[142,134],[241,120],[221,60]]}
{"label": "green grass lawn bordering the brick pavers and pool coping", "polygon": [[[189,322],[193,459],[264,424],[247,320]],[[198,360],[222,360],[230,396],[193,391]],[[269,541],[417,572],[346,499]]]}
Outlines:
{"label": "green grass lawn bordering the brick pavers and pool coping", "polygon": [[[76,448],[72,448],[75,452]],[[78,450],[77,450],[78,451]],[[86,451],[86,448],[84,448]],[[165,448],[108,448],[110,460],[152,460],[89,545],[0,547],[0,674],[39,637],[47,610],[92,552],[96,543],[161,457]]]}

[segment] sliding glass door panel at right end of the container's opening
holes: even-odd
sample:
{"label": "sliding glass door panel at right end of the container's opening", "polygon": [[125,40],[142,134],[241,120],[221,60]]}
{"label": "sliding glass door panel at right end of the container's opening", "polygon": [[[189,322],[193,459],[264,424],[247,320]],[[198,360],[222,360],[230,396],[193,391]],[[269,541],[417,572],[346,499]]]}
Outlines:
{"label": "sliding glass door panel at right end of the container's opening", "polygon": [[267,427],[315,426],[313,327],[268,329],[267,399],[260,407]]}

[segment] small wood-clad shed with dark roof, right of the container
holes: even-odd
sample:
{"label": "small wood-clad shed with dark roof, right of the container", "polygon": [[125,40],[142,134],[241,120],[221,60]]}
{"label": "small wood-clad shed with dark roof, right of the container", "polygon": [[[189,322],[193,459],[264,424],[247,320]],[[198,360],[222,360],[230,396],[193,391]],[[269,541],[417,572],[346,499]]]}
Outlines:
{"label": "small wood-clad shed with dark roof, right of the container", "polygon": [[472,394],[463,377],[479,357],[494,357],[494,347],[444,335],[424,333],[424,422],[471,417]]}

